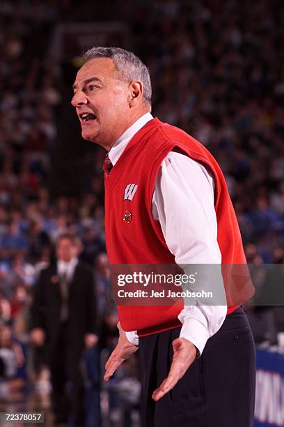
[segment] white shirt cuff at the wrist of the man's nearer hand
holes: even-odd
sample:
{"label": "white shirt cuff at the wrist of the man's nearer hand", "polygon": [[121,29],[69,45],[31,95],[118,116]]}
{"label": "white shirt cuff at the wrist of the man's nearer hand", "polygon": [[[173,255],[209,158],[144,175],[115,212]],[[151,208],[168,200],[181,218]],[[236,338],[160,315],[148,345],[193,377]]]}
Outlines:
{"label": "white shirt cuff at the wrist of the man's nearer hand", "polygon": [[180,338],[185,338],[194,344],[201,355],[210,334],[205,325],[195,317],[185,317],[184,319],[182,317],[182,313],[180,313],[178,318],[183,323]]}

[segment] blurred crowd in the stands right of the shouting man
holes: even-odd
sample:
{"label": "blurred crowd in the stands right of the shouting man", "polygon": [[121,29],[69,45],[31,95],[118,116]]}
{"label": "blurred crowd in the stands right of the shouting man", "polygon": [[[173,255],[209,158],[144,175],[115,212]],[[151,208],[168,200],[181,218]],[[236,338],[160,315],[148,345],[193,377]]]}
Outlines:
{"label": "blurred crowd in the stands right of the shouting man", "polygon": [[[274,262],[284,244],[283,3],[157,1],[136,22],[157,117],[219,161],[245,244]],[[142,43],[142,42],[141,42]]]}

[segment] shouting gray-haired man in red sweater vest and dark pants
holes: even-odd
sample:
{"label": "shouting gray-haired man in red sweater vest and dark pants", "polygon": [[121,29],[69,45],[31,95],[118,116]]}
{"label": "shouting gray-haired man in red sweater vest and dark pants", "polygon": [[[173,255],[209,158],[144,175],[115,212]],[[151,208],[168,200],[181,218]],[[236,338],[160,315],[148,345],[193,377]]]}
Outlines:
{"label": "shouting gray-haired man in red sweater vest and dark pants", "polygon": [[[111,264],[244,264],[219,165],[182,130],[152,118],[145,65],[116,47],[94,47],[84,59],[72,105],[82,137],[109,151]],[[255,351],[242,308],[118,306],[118,315],[104,379],[139,345],[143,427],[253,426]]]}

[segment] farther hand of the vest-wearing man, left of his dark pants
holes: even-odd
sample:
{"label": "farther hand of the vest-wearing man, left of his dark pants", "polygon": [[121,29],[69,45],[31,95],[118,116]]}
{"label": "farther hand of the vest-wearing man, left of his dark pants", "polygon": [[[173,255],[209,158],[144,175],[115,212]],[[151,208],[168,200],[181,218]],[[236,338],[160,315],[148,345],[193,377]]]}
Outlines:
{"label": "farther hand of the vest-wearing man, left of his dark pants", "polygon": [[116,348],[111,353],[109,360],[105,366],[106,373],[104,374],[104,381],[108,381],[111,375],[116,372],[118,366],[120,366],[126,359],[138,350],[138,346],[129,343],[126,338],[125,331],[121,329],[120,322],[118,322],[119,338]]}

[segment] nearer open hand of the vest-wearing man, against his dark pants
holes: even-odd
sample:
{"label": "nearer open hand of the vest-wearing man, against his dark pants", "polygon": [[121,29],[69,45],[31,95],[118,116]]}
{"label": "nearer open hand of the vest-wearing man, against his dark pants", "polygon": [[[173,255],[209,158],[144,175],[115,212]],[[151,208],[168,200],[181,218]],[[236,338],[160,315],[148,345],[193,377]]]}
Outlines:
{"label": "nearer open hand of the vest-wearing man, against his dark pants", "polygon": [[172,345],[173,361],[168,377],[152,394],[152,398],[156,400],[156,402],[175,387],[175,384],[183,377],[189,366],[191,366],[192,362],[196,359],[196,347],[189,340],[185,338],[176,338],[173,340]]}

